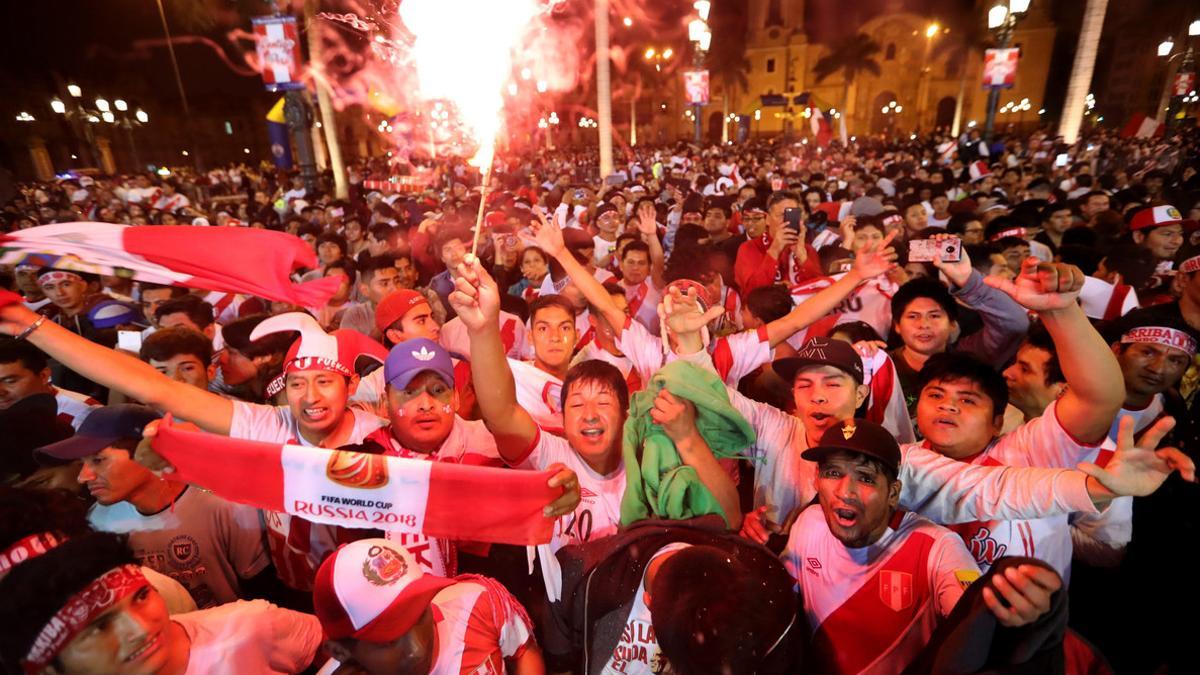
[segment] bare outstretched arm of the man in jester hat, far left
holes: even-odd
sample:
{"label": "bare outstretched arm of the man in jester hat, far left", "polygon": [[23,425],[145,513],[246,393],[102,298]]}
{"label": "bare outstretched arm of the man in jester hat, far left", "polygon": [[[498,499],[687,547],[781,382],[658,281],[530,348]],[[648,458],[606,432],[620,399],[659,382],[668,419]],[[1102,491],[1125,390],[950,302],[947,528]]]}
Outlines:
{"label": "bare outstretched arm of the man in jester hat, far left", "polygon": [[[24,305],[7,305],[0,309],[0,333],[20,335],[40,318]],[[176,382],[150,364],[85,340],[53,321],[42,321],[28,340],[92,382],[192,422],[205,431],[229,435],[233,402],[228,399]]]}

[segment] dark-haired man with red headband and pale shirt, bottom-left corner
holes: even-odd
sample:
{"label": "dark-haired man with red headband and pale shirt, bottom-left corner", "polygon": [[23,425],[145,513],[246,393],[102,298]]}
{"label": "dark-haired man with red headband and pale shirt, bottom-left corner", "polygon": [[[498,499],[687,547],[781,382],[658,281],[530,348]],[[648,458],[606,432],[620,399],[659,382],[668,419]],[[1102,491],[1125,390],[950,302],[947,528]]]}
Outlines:
{"label": "dark-haired man with red headband and pale shirt, bottom-left corner", "polygon": [[168,616],[162,596],[107,532],[43,537],[0,579],[0,662],[40,675],[301,673],[320,647],[316,616],[265,601]]}

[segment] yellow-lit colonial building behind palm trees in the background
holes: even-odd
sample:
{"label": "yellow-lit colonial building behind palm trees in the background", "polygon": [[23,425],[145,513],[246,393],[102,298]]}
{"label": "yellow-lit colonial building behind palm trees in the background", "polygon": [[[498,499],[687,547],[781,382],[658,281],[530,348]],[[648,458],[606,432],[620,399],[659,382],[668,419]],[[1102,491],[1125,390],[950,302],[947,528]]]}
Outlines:
{"label": "yellow-lit colonial building behind palm trees in the background", "polygon": [[[791,102],[802,92],[810,92],[823,110],[834,108],[845,114],[850,135],[950,127],[960,97],[961,127],[968,127],[972,121],[982,127],[988,101],[982,85],[982,49],[940,48],[940,42],[961,41],[962,36],[955,34],[954,26],[938,23],[937,17],[904,12],[901,5],[884,2],[883,12],[858,28],[857,32],[866,34],[880,44],[875,60],[881,73],[878,77],[858,73],[847,85],[841,71],[817,82],[814,67],[829,53],[829,46],[805,32],[804,0],[748,0],[749,88],[726,92],[721,90],[721,82],[714,82],[713,104],[704,112],[708,129],[715,127],[719,135],[722,115],[734,113],[749,120],[751,135],[787,130],[808,133],[804,106],[763,106],[762,102],[762,96],[779,94]],[[986,5],[980,4],[979,22],[985,20],[985,13]],[[937,30],[928,30],[935,23],[938,23]],[[1032,2],[1012,41],[1012,46],[1021,48],[1015,86],[1001,91],[997,106],[1003,108],[1012,102],[1018,109],[998,113],[997,129],[1009,124],[1032,125],[1038,120],[1055,32],[1045,0]],[[1027,106],[1020,106],[1024,100],[1028,100]],[[893,101],[895,106],[890,104]],[[836,126],[838,120],[834,120],[834,129]]]}

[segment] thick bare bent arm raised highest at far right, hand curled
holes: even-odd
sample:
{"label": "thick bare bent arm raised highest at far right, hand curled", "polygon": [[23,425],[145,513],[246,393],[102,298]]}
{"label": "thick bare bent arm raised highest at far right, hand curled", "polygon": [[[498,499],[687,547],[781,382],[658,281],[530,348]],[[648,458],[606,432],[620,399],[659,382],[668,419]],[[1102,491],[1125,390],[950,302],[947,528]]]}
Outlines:
{"label": "thick bare bent arm raised highest at far right, hand curled", "polygon": [[1104,338],[1092,328],[1076,298],[1084,273],[1067,264],[1028,258],[1015,281],[989,279],[1026,309],[1038,312],[1054,339],[1067,393],[1058,399],[1058,423],[1073,438],[1103,440],[1124,402],[1121,364]]}

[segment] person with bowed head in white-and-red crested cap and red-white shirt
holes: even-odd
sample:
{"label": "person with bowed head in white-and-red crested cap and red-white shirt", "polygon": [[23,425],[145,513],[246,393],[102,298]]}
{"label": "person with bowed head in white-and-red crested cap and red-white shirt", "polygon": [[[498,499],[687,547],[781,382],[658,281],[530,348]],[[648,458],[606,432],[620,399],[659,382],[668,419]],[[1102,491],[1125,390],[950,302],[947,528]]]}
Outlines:
{"label": "person with bowed head in white-and-red crested cap and red-white shirt", "polygon": [[428,574],[394,546],[354,542],[320,566],[313,607],[335,661],[319,675],[545,673],[533,622],[503,586]]}

